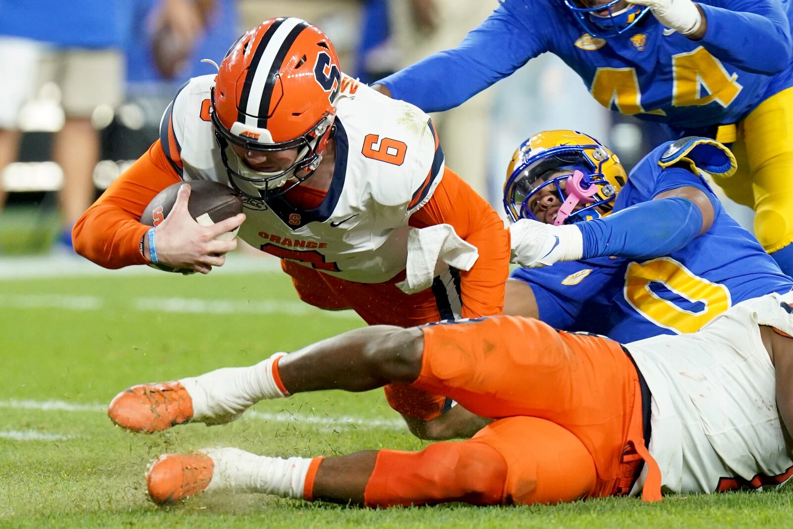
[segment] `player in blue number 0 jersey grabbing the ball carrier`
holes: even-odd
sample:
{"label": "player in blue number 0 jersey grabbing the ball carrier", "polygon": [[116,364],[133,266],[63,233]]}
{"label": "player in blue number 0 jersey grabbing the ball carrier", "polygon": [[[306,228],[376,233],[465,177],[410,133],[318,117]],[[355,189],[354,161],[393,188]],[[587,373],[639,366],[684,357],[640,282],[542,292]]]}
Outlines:
{"label": "player in blue number 0 jersey grabbing the ball carrier", "polygon": [[626,175],[591,136],[531,136],[512,158],[504,206],[515,262],[545,267],[513,271],[504,313],[625,343],[695,332],[737,303],[790,292],[702,176],[734,171],[709,138],[661,144]]}

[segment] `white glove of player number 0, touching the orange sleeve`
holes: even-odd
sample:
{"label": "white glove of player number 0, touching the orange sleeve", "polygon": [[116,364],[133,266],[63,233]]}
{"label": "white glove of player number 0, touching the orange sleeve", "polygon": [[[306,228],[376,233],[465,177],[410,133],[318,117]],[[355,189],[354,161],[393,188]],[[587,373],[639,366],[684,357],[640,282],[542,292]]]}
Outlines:
{"label": "white glove of player number 0, touching the orange sleeve", "polygon": [[509,227],[511,262],[539,268],[558,261],[575,261],[584,255],[584,236],[575,224],[554,226],[521,219]]}

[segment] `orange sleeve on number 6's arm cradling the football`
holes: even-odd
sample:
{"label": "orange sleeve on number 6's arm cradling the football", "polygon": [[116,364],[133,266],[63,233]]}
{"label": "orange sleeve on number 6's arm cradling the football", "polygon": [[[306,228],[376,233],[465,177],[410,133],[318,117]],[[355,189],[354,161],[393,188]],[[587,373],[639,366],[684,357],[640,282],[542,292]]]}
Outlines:
{"label": "orange sleeve on number 6's arm cradling the football", "polygon": [[160,191],[180,181],[155,141],[82,214],[71,232],[75,251],[105,268],[145,264],[140,239],[149,226],[140,223],[140,215]]}

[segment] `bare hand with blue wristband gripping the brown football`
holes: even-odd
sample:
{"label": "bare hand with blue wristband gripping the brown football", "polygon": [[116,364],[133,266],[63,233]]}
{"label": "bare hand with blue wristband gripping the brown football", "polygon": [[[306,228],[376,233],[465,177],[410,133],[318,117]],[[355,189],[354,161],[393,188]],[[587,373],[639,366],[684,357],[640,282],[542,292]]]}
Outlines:
{"label": "bare hand with blue wristband gripping the brown football", "polygon": [[[174,202],[174,208],[154,232],[157,261],[173,268],[188,268],[209,274],[213,266],[223,266],[226,253],[236,249],[237,240],[215,240],[225,232],[239,228],[245,213],[221,220],[211,226],[201,226],[187,210],[190,185],[183,184]],[[144,256],[149,257],[148,240],[144,238]]]}

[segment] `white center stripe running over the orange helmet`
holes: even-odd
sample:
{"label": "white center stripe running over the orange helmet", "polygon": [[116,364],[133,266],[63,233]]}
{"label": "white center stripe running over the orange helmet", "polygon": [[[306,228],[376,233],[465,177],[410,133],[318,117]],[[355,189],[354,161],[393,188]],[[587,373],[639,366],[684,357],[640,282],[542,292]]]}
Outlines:
{"label": "white center stripe running over the orange helmet", "polygon": [[[278,24],[277,28],[274,27],[276,24]],[[248,69],[245,87],[243,88],[243,95],[246,97],[240,98],[240,110],[244,112],[241,117],[244,117],[244,121],[242,119],[239,121],[243,121],[245,125],[251,127],[260,126],[256,117],[259,114],[259,109],[262,108],[266,83],[268,78],[278,72],[281,67],[280,63],[275,63],[275,58],[283,46],[292,45],[294,41],[293,29],[298,25],[303,25],[303,28],[305,28],[305,21],[300,18],[289,17],[274,22],[273,26],[262,36],[262,40],[256,47],[255,56],[251,61],[251,67]],[[270,33],[271,29],[274,29],[272,33]],[[290,37],[291,40],[289,40]],[[245,89],[247,89],[247,94]],[[272,89],[270,89],[270,94],[272,94]],[[270,105],[270,94],[267,97],[267,106]]]}

